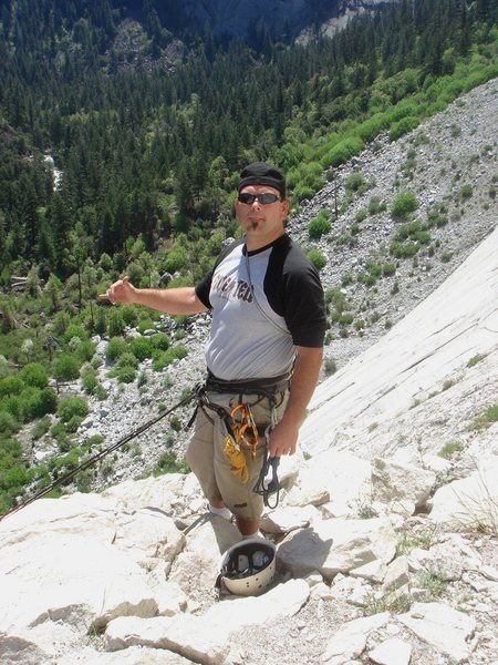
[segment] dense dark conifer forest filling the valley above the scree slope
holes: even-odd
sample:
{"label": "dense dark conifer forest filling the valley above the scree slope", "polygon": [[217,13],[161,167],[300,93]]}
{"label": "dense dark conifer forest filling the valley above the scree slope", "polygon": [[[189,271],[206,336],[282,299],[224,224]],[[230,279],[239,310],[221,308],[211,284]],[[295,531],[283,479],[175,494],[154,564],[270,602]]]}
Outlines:
{"label": "dense dark conifer forest filling the valley above the scree slope", "polygon": [[207,30],[180,40],[159,4],[2,4],[0,284],[31,265],[64,278],[104,253],[121,269],[137,238],[153,250],[231,233],[248,161],[286,168],[299,202],[378,132],[434,112],[459,63],[476,78],[496,61],[492,0],[404,0],[307,45],[261,27],[258,48]]}

